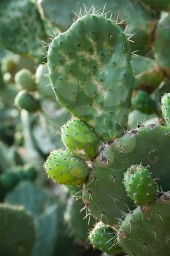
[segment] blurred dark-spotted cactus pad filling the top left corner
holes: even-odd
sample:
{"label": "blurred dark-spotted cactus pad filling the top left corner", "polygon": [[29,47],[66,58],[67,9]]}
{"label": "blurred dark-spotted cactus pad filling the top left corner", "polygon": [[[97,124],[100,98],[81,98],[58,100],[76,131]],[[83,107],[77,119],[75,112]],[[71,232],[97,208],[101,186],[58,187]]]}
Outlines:
{"label": "blurred dark-spotted cactus pad filling the top left corner", "polygon": [[36,6],[28,0],[1,0],[0,42],[14,53],[40,57],[46,39]]}

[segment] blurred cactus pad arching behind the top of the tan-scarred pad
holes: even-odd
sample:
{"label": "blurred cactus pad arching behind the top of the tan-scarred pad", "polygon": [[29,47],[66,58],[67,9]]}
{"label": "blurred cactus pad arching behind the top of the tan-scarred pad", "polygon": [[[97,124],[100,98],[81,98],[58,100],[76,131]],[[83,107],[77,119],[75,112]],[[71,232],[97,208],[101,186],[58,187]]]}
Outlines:
{"label": "blurred cactus pad arching behind the top of the tan-scarred pad", "polygon": [[[103,12],[109,12],[112,19],[117,22],[125,20],[128,23],[126,29],[130,39],[134,42],[131,47],[134,50],[140,50],[140,53],[145,53],[150,49],[150,41],[152,39],[151,32],[155,26],[155,20],[152,17],[152,12],[147,10],[139,1],[134,0],[39,0],[39,10],[42,18],[47,18],[51,23],[55,24],[61,31],[66,31],[72,25],[72,20],[77,18],[77,15],[83,15],[85,12],[93,10],[98,13],[98,10],[104,9]],[[84,5],[85,4],[85,7]],[[104,6],[106,4],[106,6]],[[62,12],[61,12],[62,10]],[[74,12],[73,12],[74,11]],[[75,14],[77,13],[77,15]],[[119,18],[117,19],[117,16]],[[138,22],[136,22],[138,20]],[[123,29],[125,28],[125,23]],[[131,34],[134,37],[131,38]]]}

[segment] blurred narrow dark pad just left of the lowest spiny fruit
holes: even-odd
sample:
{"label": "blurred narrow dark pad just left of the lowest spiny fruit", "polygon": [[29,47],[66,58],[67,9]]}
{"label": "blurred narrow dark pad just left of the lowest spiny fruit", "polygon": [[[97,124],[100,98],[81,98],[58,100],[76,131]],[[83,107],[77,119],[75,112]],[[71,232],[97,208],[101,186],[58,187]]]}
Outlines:
{"label": "blurred narrow dark pad just left of the lowest spiny fruit", "polygon": [[95,224],[93,217],[85,218],[85,213],[81,211],[84,206],[82,200],[75,200],[74,197],[70,197],[64,213],[64,220],[69,227],[69,233],[77,244],[87,244],[88,230]]}

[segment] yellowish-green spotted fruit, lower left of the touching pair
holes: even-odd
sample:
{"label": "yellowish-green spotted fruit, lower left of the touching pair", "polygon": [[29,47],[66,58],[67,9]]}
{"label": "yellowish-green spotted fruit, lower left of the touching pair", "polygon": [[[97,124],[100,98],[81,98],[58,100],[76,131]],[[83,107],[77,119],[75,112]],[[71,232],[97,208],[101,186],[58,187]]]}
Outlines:
{"label": "yellowish-green spotted fruit, lower left of the touching pair", "polygon": [[63,185],[80,185],[88,176],[88,165],[69,151],[52,151],[45,162],[50,178]]}

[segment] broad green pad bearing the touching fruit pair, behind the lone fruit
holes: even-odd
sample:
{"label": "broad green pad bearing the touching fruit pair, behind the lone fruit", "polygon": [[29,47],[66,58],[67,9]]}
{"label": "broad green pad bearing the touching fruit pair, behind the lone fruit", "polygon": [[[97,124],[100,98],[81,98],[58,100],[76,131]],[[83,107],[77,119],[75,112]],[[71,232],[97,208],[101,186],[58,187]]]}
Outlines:
{"label": "broad green pad bearing the touching fruit pair, behind the lone fruit", "polygon": [[[144,165],[156,178],[158,186],[169,190],[170,128],[148,127],[127,132],[105,146],[93,162],[82,197],[90,214],[109,225],[131,207],[123,187],[123,173],[131,166]],[[161,171],[160,171],[161,170]]]}

